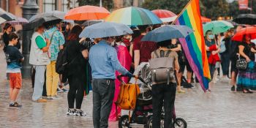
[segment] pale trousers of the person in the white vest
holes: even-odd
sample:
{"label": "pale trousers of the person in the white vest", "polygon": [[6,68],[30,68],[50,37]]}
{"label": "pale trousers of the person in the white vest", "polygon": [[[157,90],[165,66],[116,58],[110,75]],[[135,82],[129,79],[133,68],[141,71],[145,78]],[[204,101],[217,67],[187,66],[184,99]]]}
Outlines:
{"label": "pale trousers of the person in the white vest", "polygon": [[34,77],[34,91],[32,100],[36,101],[42,97],[42,90],[45,83],[45,69],[46,66],[35,66],[36,75]]}

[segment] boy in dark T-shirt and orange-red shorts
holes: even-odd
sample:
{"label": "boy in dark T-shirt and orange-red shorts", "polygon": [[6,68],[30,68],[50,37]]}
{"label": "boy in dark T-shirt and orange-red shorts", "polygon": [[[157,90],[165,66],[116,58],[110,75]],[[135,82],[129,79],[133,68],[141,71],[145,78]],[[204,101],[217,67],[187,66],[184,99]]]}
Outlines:
{"label": "boy in dark T-shirt and orange-red shorts", "polygon": [[20,53],[15,45],[18,42],[18,35],[15,33],[9,34],[9,45],[6,48],[5,56],[7,59],[7,73],[10,77],[10,107],[21,108],[16,102],[18,93],[21,88],[21,64],[20,62],[24,60],[23,55]]}

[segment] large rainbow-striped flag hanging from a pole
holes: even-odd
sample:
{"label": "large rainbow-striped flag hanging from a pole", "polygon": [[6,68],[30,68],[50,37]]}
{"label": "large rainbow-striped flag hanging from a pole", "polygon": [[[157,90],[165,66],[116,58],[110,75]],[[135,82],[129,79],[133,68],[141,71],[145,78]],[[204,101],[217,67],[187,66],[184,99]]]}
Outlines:
{"label": "large rainbow-striped flag hanging from a pole", "polygon": [[177,25],[189,26],[194,33],[179,39],[189,64],[193,69],[203,91],[208,90],[211,75],[206,56],[206,46],[203,37],[203,26],[200,15],[199,0],[191,0],[176,19]]}

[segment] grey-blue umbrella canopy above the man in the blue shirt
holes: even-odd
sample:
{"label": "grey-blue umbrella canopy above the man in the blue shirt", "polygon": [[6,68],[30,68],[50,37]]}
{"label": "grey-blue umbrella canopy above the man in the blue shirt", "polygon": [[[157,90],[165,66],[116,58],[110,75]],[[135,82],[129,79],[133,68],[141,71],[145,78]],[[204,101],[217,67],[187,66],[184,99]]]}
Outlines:
{"label": "grey-blue umbrella canopy above the man in the blue shirt", "polygon": [[79,37],[103,38],[116,37],[132,33],[132,29],[129,29],[129,27],[124,24],[102,22],[86,27],[86,29],[83,29]]}

